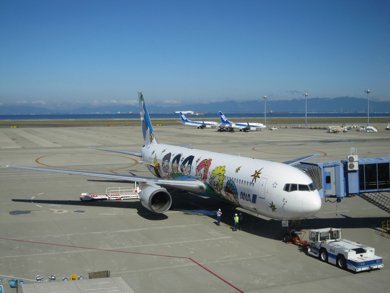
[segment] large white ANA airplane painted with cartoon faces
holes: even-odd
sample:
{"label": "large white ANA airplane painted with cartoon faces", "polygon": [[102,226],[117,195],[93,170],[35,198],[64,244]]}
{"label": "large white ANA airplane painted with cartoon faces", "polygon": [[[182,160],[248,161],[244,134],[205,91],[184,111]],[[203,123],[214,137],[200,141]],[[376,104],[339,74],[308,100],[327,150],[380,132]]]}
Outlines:
{"label": "large white ANA airplane painted with cartoon faces", "polygon": [[277,220],[299,220],[321,209],[313,180],[293,164],[318,154],[284,163],[158,143],[142,92],[138,92],[144,146],[139,152],[96,148],[142,158],[155,177],[138,177],[83,171],[7,166],[140,182],[142,205],[153,213],[165,213],[172,204],[168,190],[181,189],[214,197],[248,211]]}

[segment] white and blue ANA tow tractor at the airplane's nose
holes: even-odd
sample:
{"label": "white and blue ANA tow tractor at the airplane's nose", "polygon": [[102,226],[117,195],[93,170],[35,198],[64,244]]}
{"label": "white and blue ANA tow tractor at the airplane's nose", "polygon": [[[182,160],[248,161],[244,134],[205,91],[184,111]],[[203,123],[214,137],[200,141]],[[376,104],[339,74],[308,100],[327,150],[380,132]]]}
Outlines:
{"label": "white and blue ANA tow tractor at the airplane's nose", "polygon": [[342,239],[341,229],[311,230],[308,253],[323,262],[355,272],[383,268],[382,257],[375,255],[375,248]]}

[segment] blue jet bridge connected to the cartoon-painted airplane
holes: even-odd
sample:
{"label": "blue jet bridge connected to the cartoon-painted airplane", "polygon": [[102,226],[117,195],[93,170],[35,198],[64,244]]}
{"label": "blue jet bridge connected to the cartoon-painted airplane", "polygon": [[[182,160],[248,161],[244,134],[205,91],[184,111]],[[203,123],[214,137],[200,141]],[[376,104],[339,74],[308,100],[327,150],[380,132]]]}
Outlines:
{"label": "blue jet bridge connected to the cartoon-painted airplane", "polygon": [[390,157],[358,159],[351,151],[340,162],[301,162],[294,167],[312,178],[321,198],[390,191]]}

